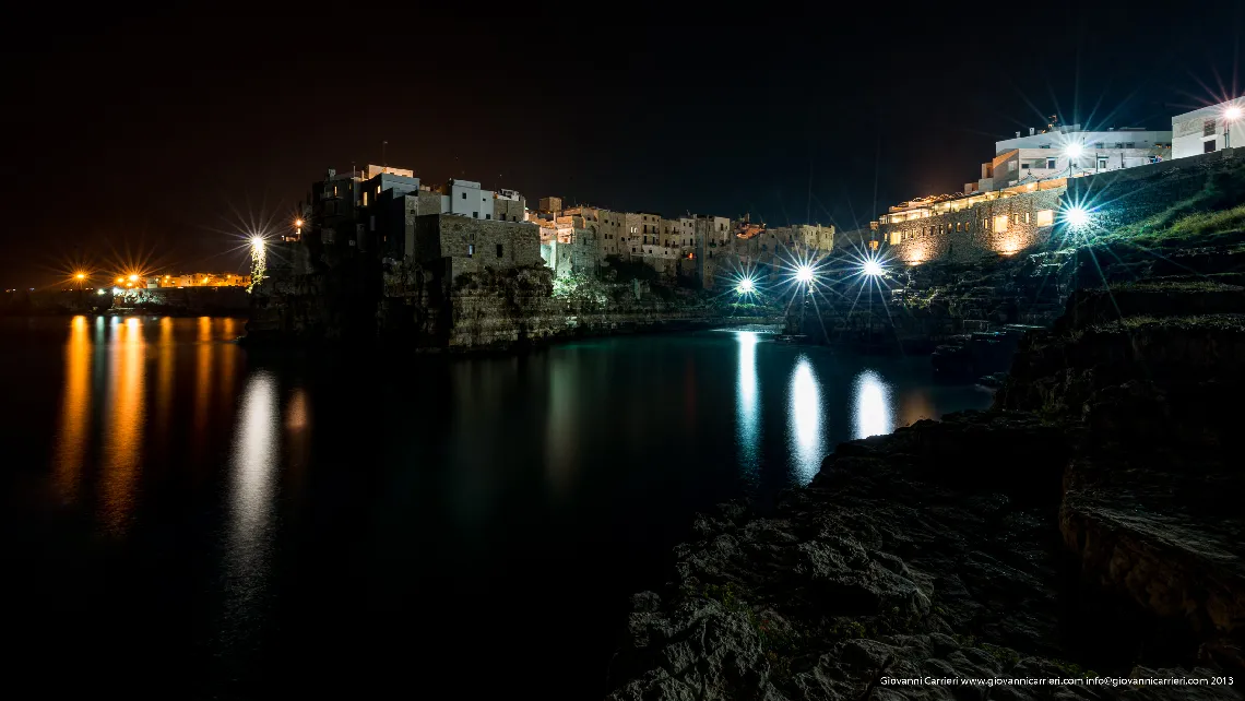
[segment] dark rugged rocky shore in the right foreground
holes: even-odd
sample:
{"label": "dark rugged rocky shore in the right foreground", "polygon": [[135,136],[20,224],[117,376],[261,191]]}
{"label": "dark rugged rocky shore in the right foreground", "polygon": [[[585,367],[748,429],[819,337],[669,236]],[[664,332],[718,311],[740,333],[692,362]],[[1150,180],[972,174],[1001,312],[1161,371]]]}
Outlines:
{"label": "dark rugged rocky shore in the right foreground", "polygon": [[1245,388],[1241,300],[1154,284],[1113,321],[1106,293],[1073,298],[994,411],[840,445],[763,518],[698,517],[674,580],[635,596],[610,699],[1239,699],[889,681],[1245,676],[1245,471],[1219,408]]}

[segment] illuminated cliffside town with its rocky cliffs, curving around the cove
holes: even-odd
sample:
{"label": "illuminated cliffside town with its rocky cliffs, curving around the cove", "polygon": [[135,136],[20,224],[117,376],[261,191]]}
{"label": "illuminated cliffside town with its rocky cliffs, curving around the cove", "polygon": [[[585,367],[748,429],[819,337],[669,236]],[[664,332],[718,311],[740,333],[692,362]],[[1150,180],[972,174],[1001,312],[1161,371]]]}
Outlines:
{"label": "illuminated cliffside town with its rocky cliffs, curving around the cove", "polygon": [[[472,181],[329,171],[294,234],[269,249],[249,337],[381,335],[466,350],[764,318],[810,342],[945,346],[941,367],[1005,370],[1010,346],[991,346],[1053,322],[1077,285],[1072,250],[1239,169],[1226,120],[1211,111],[1173,117],[1173,131],[1052,122],[1017,132],[962,193],[905,202],[852,230],[558,197],[530,208]],[[585,284],[596,291],[573,294]]]}

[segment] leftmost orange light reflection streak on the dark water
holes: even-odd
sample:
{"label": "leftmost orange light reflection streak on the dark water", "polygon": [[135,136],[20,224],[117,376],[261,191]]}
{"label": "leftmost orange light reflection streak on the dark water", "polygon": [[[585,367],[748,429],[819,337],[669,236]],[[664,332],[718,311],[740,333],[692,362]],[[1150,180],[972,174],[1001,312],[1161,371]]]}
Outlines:
{"label": "leftmost orange light reflection streak on the dark water", "polygon": [[75,316],[65,346],[65,397],[56,436],[56,491],[65,502],[77,498],[91,430],[91,339],[87,334],[86,316]]}

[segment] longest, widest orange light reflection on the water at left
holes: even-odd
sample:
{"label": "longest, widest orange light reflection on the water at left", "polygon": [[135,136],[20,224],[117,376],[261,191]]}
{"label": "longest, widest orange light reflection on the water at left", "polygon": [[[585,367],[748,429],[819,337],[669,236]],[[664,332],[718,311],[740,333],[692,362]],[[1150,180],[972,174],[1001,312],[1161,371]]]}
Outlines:
{"label": "longest, widest orange light reflection on the water at left", "polygon": [[115,534],[128,525],[134,481],[143,458],[143,352],[142,321],[126,319],[112,339],[112,374],[105,403],[101,515],[105,527]]}

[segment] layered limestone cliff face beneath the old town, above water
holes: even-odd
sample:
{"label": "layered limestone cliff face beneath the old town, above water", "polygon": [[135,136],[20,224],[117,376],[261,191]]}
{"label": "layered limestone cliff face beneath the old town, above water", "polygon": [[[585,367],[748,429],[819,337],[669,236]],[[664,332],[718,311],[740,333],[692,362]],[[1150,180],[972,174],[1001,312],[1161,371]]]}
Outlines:
{"label": "layered limestone cliff face beneath the old town, above water", "polygon": [[[249,337],[298,342],[382,337],[415,349],[508,350],[561,337],[722,324],[781,325],[781,311],[743,311],[691,290],[580,280],[555,290],[542,265],[452,275],[443,264],[388,263],[376,274],[339,265],[278,273],[256,288]],[[566,283],[559,283],[561,288]]]}

